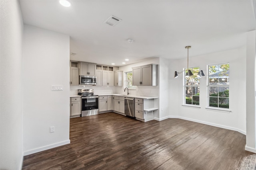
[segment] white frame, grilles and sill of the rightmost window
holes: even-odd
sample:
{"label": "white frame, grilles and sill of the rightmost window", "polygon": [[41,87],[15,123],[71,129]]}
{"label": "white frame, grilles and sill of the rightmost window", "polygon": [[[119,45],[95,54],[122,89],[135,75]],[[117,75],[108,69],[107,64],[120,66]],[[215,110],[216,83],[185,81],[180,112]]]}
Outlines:
{"label": "white frame, grilles and sill of the rightmost window", "polygon": [[[207,65],[207,107],[206,107],[206,109],[208,109],[208,110],[218,110],[218,111],[223,111],[223,112],[227,112],[227,113],[229,113],[231,110],[230,110],[230,103],[229,103],[229,92],[228,92],[228,97],[223,97],[223,96],[219,96],[219,88],[220,87],[224,87],[224,88],[227,88],[228,87],[228,90],[230,89],[230,73],[228,73],[228,78],[227,78],[227,82],[228,82],[228,84],[218,84],[218,85],[210,85],[210,66],[214,66],[214,65],[218,65],[218,66],[220,66],[220,65],[223,65],[223,64],[228,64],[229,65],[229,67],[230,67],[230,63],[229,62],[227,62],[227,63],[218,63],[218,64],[208,64]],[[230,70],[230,68],[228,69],[228,70]],[[218,83],[219,83],[219,80],[220,80],[220,78],[218,77]],[[218,88],[218,96],[216,97],[216,96],[210,96],[210,88],[211,87],[215,87],[215,88]],[[218,107],[214,107],[214,106],[210,106],[210,97],[211,98],[218,98]],[[219,98],[227,98],[228,99],[228,108],[226,108],[226,107],[219,107]]]}

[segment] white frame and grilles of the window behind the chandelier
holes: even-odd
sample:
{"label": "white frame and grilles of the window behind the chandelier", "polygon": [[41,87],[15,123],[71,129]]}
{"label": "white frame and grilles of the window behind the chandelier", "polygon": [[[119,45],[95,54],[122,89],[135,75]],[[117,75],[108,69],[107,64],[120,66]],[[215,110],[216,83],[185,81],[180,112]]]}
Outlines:
{"label": "white frame and grilles of the window behind the chandelier", "polygon": [[[200,67],[199,66],[193,66],[193,67],[188,67],[189,70],[193,70],[194,68],[198,68],[198,70],[196,71],[200,71]],[[200,108],[200,78],[198,78],[198,85],[186,85],[186,69],[187,68],[183,68],[184,70],[184,73],[183,73],[183,105],[182,106],[185,106],[185,107],[198,107]],[[196,77],[196,75],[194,75],[194,77]],[[193,95],[193,92],[192,92],[192,100],[191,100],[191,104],[187,104],[186,103],[186,88],[187,87],[198,87],[199,88],[199,96],[198,95]],[[196,93],[195,93],[196,94]],[[193,96],[198,96],[198,99],[199,99],[199,104],[193,104]]]}

